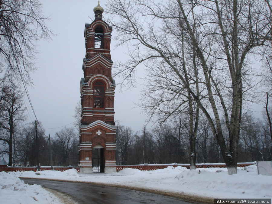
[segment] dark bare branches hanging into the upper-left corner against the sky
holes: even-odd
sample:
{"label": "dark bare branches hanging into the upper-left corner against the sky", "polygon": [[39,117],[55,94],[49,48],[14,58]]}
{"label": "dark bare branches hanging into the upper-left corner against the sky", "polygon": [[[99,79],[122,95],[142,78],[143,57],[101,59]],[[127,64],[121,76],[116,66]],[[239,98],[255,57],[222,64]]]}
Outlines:
{"label": "dark bare branches hanging into the upper-left corner against the sky", "polygon": [[0,1],[0,66],[6,76],[30,82],[30,72],[36,69],[36,41],[50,38],[45,25],[47,17],[41,12],[38,0]]}

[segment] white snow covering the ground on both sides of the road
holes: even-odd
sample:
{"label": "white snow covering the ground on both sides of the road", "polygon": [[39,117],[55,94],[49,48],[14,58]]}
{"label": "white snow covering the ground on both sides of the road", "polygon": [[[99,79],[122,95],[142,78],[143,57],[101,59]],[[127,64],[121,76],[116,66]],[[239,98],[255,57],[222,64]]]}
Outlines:
{"label": "white snow covering the ground on both sides of the road", "polygon": [[[28,186],[20,182],[18,178],[15,177],[18,176],[49,180],[105,183],[107,185],[146,188],[212,199],[272,198],[272,176],[257,175],[256,165],[245,168],[238,167],[237,171],[237,174],[228,175],[226,168],[199,168],[190,171],[185,167],[174,168],[170,166],[165,169],[154,171],[140,171],[126,168],[118,173],[93,174],[77,173],[75,169],[66,170],[64,172],[40,171],[40,175],[36,175],[33,171],[1,172],[0,188],[2,189],[0,190],[0,196],[1,199],[12,198],[16,193],[16,189],[18,189],[18,195],[29,196],[30,198],[28,199],[32,199],[32,202],[28,201],[26,203],[35,203],[35,199],[47,199],[48,201],[43,203],[50,203],[51,200],[55,199],[52,195],[43,193],[38,185]],[[11,186],[8,187],[9,182],[11,183]],[[7,187],[3,188],[4,185]],[[27,193],[21,193],[24,191]],[[26,198],[19,197],[18,199],[21,200]]]}

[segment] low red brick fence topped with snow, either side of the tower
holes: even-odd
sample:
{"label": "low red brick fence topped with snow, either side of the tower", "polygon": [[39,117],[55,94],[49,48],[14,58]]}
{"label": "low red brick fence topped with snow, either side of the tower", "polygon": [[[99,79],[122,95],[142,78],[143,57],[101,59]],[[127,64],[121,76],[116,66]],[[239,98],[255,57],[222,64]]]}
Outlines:
{"label": "low red brick fence topped with snow, either side of the tower", "polygon": [[[246,167],[256,164],[256,162],[246,162],[246,163],[237,163],[238,167]],[[164,169],[169,166],[177,167],[186,167],[187,169],[190,169],[190,164],[139,164],[139,165],[119,165],[116,166],[116,171],[121,171],[122,169],[125,168],[131,168],[131,169],[139,169],[139,170],[146,170],[146,171],[151,171],[151,170],[157,170],[157,169]],[[196,168],[211,168],[211,167],[218,167],[218,168],[225,168],[226,164],[224,163],[213,163],[213,164],[208,164],[208,163],[202,163],[202,164],[196,164]],[[79,172],[79,167],[53,167],[55,171],[65,171],[68,169],[76,169],[77,172]],[[51,167],[40,167],[41,171],[44,170],[51,170]],[[37,171],[37,167],[0,167],[0,171]]]}

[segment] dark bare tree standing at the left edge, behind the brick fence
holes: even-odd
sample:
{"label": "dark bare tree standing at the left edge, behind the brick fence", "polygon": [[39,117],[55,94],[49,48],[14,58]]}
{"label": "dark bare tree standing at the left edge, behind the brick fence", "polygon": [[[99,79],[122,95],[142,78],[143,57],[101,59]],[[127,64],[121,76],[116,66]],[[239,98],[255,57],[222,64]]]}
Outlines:
{"label": "dark bare tree standing at the left edge, behind the brick fence", "polygon": [[8,144],[8,165],[12,166],[13,151],[15,147],[15,130],[19,123],[26,119],[24,115],[23,93],[13,84],[2,84],[0,87],[0,140]]}

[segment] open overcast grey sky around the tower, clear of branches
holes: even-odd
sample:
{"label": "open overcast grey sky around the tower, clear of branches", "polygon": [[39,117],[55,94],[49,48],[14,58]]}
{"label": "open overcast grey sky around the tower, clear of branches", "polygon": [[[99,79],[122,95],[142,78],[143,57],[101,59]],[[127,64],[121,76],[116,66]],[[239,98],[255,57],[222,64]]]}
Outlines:
{"label": "open overcast grey sky around the tower, clear of branches", "polygon": [[[46,129],[46,134],[55,135],[55,132],[61,129],[57,127],[74,121],[72,116],[76,103],[80,100],[79,83],[83,77],[84,27],[94,19],[93,8],[97,6],[98,1],[40,0],[40,2],[43,4],[44,15],[51,15],[51,21],[47,22],[47,25],[57,36],[53,36],[49,42],[38,42],[39,54],[36,56],[38,70],[31,75],[34,87],[29,87],[28,91],[37,118]],[[105,3],[104,0],[100,1],[104,9]],[[114,34],[115,31],[112,32],[113,36]],[[112,39],[113,61],[120,60],[122,53],[122,50],[114,50],[115,44]],[[115,81],[118,83],[118,79]],[[115,120],[121,121],[121,125],[130,126],[134,131],[141,130],[146,117],[140,114],[140,108],[134,108],[140,89],[134,88],[123,93],[119,91],[120,86],[117,85]],[[29,108],[28,112],[29,121],[35,120]]]}

